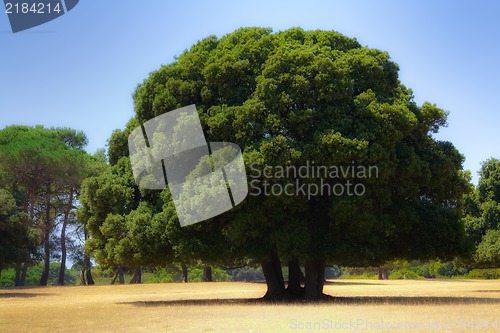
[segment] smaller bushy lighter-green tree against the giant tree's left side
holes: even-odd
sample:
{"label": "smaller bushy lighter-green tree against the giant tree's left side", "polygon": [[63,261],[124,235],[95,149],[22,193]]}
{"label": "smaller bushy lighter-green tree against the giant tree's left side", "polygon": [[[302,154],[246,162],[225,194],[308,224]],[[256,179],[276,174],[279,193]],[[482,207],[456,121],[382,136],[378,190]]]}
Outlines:
{"label": "smaller bushy lighter-green tree against the giant tree's left side", "polygon": [[100,265],[119,273],[124,267],[134,269],[134,283],[140,282],[141,266],[167,263],[166,217],[156,215],[162,207],[160,193],[139,190],[128,157],[85,179],[80,203],[77,216],[90,235],[86,250]]}

